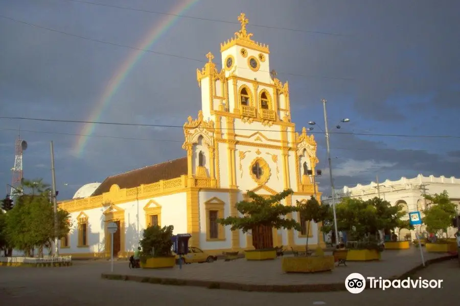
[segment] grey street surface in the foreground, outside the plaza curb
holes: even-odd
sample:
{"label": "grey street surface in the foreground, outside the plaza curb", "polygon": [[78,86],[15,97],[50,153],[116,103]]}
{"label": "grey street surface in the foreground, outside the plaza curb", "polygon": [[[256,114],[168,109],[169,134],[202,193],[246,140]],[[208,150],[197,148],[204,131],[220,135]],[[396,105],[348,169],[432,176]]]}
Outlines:
{"label": "grey street surface in the foreground, outside the plaza curb", "polygon": [[[235,262],[236,263],[236,262]],[[219,263],[209,264],[210,266]],[[236,263],[238,264],[238,263]],[[114,264],[116,270],[124,269],[124,261]],[[206,267],[192,264],[190,269]],[[207,268],[207,267],[206,267]],[[110,269],[104,261],[75,262],[72,267],[28,268],[0,267],[0,301],[2,305],[21,306],[101,306],[183,304],[219,306],[280,305],[340,305],[340,306],[444,306],[458,304],[460,268],[455,260],[430,265],[415,277],[444,279],[442,289],[365,290],[360,294],[342,292],[323,293],[262,293],[210,290],[188,286],[165,286],[137,282],[108,281],[101,272]],[[341,269],[341,268],[340,268]],[[347,269],[347,268],[344,268]],[[348,269],[348,270],[351,270]],[[263,271],[260,271],[264,273]],[[348,273],[348,272],[347,272]],[[304,278],[316,275],[304,275]]]}

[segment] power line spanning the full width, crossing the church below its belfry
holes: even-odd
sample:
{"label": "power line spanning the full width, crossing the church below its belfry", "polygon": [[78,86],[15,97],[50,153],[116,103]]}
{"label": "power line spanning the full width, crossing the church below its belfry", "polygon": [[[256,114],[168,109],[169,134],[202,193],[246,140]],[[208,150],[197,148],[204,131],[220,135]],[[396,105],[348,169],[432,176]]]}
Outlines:
{"label": "power line spanning the full width, crossing the church below its belfry", "polygon": [[[62,119],[42,119],[42,118],[27,118],[27,117],[0,117],[0,119],[19,119],[19,120],[33,120],[33,121],[49,121],[49,122],[68,122],[68,123],[91,123],[91,124],[108,124],[108,125],[127,125],[127,126],[149,126],[149,127],[171,127],[183,129],[183,125],[169,125],[169,124],[146,124],[146,123],[122,123],[122,122],[101,122],[101,121],[83,121],[83,120],[62,120]],[[228,130],[226,127],[221,127],[221,130]],[[257,129],[234,129],[236,131],[254,131],[254,132],[267,132],[268,130]],[[301,133],[301,131],[294,131]],[[310,134],[325,134],[324,132],[312,132]],[[407,138],[454,138],[460,139],[460,136],[452,135],[404,135],[404,134],[371,134],[371,133],[353,133],[353,132],[329,132],[329,134],[342,134],[342,135],[357,135],[357,136],[375,136],[375,137],[407,137]]]}

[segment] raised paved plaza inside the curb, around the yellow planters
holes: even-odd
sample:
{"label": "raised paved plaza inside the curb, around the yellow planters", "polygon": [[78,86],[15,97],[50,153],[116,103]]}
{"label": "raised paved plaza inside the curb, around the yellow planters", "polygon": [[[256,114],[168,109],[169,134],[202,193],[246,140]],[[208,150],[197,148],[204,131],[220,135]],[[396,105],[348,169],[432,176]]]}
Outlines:
{"label": "raised paved plaza inside the curb, around the yellow planters", "polygon": [[[326,253],[327,254],[327,253]],[[425,260],[446,256],[443,253],[424,253]],[[281,258],[273,261],[251,261],[238,259],[225,262],[190,264],[174,269],[133,269],[128,265],[117,265],[114,274],[140,275],[148,277],[195,279],[209,282],[228,282],[250,285],[311,285],[335,284],[352,272],[363,276],[397,277],[422,263],[420,250],[411,247],[409,250],[386,250],[382,252],[381,261],[347,262],[347,267],[336,267],[331,272],[303,274],[284,273],[281,269]],[[110,271],[104,272],[110,274]]]}

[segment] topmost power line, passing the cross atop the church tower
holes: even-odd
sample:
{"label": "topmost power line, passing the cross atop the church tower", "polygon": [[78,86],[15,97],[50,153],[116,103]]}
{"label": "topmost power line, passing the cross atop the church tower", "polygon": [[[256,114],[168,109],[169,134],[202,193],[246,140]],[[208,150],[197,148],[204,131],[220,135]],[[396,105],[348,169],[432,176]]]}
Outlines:
{"label": "topmost power line, passing the cross atop the church tower", "polygon": [[[204,18],[204,17],[195,17],[195,16],[188,16],[188,15],[178,15],[178,14],[171,14],[171,13],[164,13],[158,11],[151,11],[145,9],[138,9],[133,7],[125,7],[125,6],[118,6],[118,5],[111,5],[111,4],[103,4],[103,3],[96,3],[96,2],[89,2],[89,1],[81,1],[81,0],[60,0],[66,2],[76,2],[94,6],[102,6],[102,7],[110,7],[110,8],[117,8],[122,10],[129,10],[129,11],[137,11],[137,12],[145,12],[157,15],[166,15],[166,16],[175,16],[180,18],[187,18],[187,19],[196,19],[196,20],[204,20],[204,21],[212,21],[212,22],[220,22],[220,23],[227,23],[227,24],[240,24],[239,22],[234,21],[226,21],[226,20],[219,20],[219,19],[211,19],[211,18]],[[332,33],[332,32],[321,32],[321,31],[311,31],[311,30],[299,30],[299,29],[291,29],[291,28],[281,28],[281,27],[272,27],[269,25],[261,25],[261,24],[250,24],[251,27],[256,28],[264,28],[264,29],[272,29],[272,30],[283,30],[283,31],[291,31],[291,32],[301,32],[301,33],[309,33],[309,34],[321,34],[321,35],[330,35],[330,36],[351,36],[347,34],[340,34],[340,33]]]}

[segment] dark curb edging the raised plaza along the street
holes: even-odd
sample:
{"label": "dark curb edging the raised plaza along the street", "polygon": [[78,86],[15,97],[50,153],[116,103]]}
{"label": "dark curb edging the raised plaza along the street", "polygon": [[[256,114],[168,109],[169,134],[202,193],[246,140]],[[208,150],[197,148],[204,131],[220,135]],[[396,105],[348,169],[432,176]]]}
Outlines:
{"label": "dark curb edging the raised plaza along the street", "polygon": [[[456,256],[444,256],[427,260],[425,267],[431,264],[454,259]],[[405,279],[415,274],[416,272],[424,269],[423,265],[420,264],[415,268],[406,271],[398,277],[389,278],[390,281],[396,279]],[[150,283],[159,285],[172,285],[172,286],[193,286],[193,287],[204,287],[208,289],[224,289],[224,290],[238,290],[238,291],[253,291],[253,292],[334,292],[334,291],[346,291],[345,283],[334,283],[334,284],[305,284],[305,285],[250,285],[250,284],[239,284],[229,282],[213,282],[213,281],[201,281],[198,279],[178,279],[178,278],[164,278],[164,277],[146,277],[136,275],[121,275],[121,274],[105,274],[102,273],[101,277],[104,279],[111,279],[116,281],[132,281],[139,283]],[[377,288],[378,289],[378,288]],[[365,290],[376,290],[376,288],[369,288],[366,286]]]}

